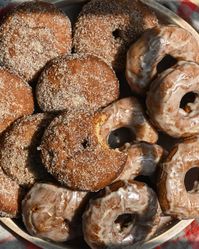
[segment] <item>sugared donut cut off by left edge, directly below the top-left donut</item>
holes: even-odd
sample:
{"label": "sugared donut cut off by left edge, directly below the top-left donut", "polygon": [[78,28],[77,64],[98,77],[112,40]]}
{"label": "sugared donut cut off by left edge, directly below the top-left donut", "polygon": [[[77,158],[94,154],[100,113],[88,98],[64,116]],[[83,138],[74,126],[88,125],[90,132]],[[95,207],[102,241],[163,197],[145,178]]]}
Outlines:
{"label": "sugared donut cut off by left edge, directly below the top-left donut", "polygon": [[33,113],[31,87],[12,71],[0,67],[0,133],[16,119]]}

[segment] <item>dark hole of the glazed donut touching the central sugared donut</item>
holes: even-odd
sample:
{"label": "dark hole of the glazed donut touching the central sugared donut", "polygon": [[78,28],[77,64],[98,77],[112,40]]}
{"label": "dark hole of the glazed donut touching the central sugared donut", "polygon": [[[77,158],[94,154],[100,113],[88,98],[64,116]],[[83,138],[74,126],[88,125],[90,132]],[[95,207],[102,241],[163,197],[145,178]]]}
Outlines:
{"label": "dark hole of the glazed donut touching the central sugared donut", "polygon": [[108,137],[108,144],[111,149],[121,148],[126,143],[135,140],[133,132],[126,127],[122,127],[112,131]]}

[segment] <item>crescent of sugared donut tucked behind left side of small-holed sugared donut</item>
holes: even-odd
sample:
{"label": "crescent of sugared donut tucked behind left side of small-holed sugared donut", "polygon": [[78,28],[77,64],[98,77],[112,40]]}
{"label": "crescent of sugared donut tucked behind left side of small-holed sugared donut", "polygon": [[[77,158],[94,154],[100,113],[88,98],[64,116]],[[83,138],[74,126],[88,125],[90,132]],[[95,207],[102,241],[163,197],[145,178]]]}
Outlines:
{"label": "crescent of sugared donut tucked behind left side of small-holed sugared donut", "polygon": [[14,122],[4,133],[0,167],[23,187],[30,187],[36,180],[49,178],[37,147],[52,117],[44,113],[26,116]]}

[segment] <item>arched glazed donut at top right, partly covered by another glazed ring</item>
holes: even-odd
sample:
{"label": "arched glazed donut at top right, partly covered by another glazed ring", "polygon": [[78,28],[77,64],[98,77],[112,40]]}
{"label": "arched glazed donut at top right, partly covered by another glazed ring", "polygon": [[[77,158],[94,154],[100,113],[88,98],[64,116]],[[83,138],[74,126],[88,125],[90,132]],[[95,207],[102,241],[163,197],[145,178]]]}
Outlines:
{"label": "arched glazed donut at top right, partly covered by another glazed ring", "polygon": [[187,30],[174,25],[154,27],[128,50],[126,79],[132,91],[145,94],[166,56],[171,56],[174,64],[179,60],[199,62],[198,54],[198,41]]}

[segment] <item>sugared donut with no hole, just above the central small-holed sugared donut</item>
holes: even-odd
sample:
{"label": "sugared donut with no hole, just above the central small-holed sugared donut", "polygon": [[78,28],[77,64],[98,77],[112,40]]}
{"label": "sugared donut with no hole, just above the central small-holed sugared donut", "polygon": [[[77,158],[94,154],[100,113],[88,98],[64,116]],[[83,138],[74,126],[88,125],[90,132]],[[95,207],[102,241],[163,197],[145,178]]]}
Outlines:
{"label": "sugared donut with no hole, just above the central small-holed sugared donut", "polygon": [[62,56],[41,73],[36,96],[43,111],[96,111],[119,97],[119,82],[95,56]]}

